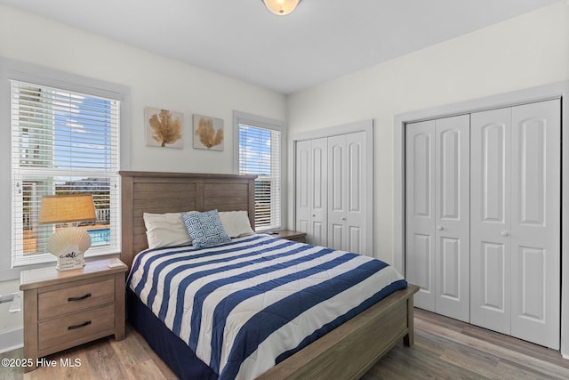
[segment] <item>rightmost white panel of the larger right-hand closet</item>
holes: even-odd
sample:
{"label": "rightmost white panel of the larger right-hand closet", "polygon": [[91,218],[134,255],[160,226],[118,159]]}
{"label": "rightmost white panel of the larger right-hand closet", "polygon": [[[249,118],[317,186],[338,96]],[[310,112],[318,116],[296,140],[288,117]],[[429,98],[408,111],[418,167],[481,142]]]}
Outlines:
{"label": "rightmost white panel of the larger right-hand closet", "polygon": [[511,335],[559,349],[560,101],[512,108]]}

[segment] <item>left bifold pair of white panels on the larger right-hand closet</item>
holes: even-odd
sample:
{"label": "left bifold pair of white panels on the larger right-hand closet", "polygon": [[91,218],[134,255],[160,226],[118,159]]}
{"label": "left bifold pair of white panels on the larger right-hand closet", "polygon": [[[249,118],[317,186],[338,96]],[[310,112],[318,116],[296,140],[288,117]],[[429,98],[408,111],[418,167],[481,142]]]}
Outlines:
{"label": "left bifold pair of white panels on the larger right-hand closet", "polygon": [[469,115],[406,126],[406,276],[415,305],[469,321]]}

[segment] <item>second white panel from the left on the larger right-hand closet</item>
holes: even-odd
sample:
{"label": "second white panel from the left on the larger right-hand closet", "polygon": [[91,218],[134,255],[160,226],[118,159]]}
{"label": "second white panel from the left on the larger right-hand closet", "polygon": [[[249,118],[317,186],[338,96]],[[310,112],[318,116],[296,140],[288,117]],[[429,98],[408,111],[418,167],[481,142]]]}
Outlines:
{"label": "second white panel from the left on the larger right-hand closet", "polygon": [[436,123],[436,310],[468,322],[470,117],[445,117]]}

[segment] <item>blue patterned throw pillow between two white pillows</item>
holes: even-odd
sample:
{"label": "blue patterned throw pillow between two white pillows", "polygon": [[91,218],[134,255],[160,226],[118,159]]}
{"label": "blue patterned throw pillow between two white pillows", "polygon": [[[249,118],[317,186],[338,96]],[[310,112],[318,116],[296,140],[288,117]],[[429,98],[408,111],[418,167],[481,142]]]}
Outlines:
{"label": "blue patterned throw pillow between two white pillows", "polygon": [[223,229],[217,210],[204,213],[181,213],[181,218],[196,248],[231,242],[227,232]]}

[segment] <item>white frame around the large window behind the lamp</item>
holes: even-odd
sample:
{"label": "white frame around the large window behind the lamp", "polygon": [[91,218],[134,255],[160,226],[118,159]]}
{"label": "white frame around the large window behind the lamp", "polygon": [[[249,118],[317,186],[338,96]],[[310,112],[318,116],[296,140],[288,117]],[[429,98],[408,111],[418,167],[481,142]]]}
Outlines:
{"label": "white frame around the large window behind the lamp", "polygon": [[[117,159],[116,166],[117,172],[120,170],[128,170],[130,167],[130,139],[123,138],[124,135],[130,134],[130,90],[124,85],[116,85],[105,81],[92,79],[89,77],[82,77],[74,74],[69,74],[55,69],[44,68],[28,62],[10,60],[0,57],[0,81],[2,91],[0,92],[0,111],[2,111],[4,125],[12,134],[12,95],[11,95],[11,81],[20,81],[32,83],[35,85],[58,88],[63,91],[71,91],[76,93],[84,93],[96,97],[103,97],[120,102],[120,116],[118,118],[118,131],[117,131]],[[4,86],[5,87],[2,87]],[[14,226],[12,225],[13,211],[12,208],[12,192],[15,190],[16,183],[14,182],[15,175],[12,170],[12,142],[10,139],[1,141],[0,146],[4,149],[1,155],[4,154],[5,162],[11,163],[9,169],[3,170],[0,174],[0,181],[4,185],[0,186],[0,196],[10,199],[10,202],[0,208],[0,227],[3,227],[4,237],[4,252],[11,252],[10,255],[0,255],[0,271],[12,268],[12,271],[20,271],[27,267],[44,266],[45,263],[52,263],[55,261],[53,255],[39,254],[24,257],[12,252],[12,238],[14,235]],[[4,145],[2,145],[4,144]],[[114,177],[115,178],[115,177]],[[116,190],[112,194],[112,201],[116,202],[116,245],[112,250],[99,250],[93,247],[92,252],[86,257],[99,256],[99,255],[117,255],[121,250],[121,206],[120,206],[120,176],[116,173]],[[114,218],[115,219],[115,218]],[[99,251],[99,252],[97,252]]]}

